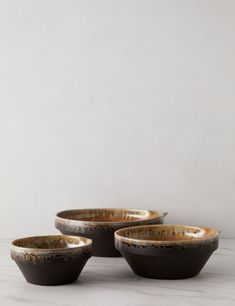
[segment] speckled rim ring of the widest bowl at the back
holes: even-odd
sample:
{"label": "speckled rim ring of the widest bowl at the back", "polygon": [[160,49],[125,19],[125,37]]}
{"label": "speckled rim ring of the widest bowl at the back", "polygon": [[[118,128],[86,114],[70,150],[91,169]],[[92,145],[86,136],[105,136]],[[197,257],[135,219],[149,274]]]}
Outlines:
{"label": "speckled rim ring of the widest bowl at the back", "polygon": [[[123,210],[123,211],[127,211],[127,212],[134,212],[134,211],[138,211],[138,212],[146,212],[149,214],[154,214],[154,216],[152,217],[144,217],[142,219],[139,220],[134,220],[134,221],[89,221],[89,220],[74,220],[74,219],[68,219],[66,217],[62,217],[60,216],[63,213],[69,213],[69,212],[85,212],[85,211],[119,211],[119,210]],[[159,219],[159,218],[164,218],[168,213],[167,212],[160,212],[157,210],[148,210],[148,209],[134,209],[134,208],[82,208],[82,209],[69,209],[69,210],[62,210],[59,211],[56,214],[56,220],[63,220],[63,221],[68,221],[71,222],[73,224],[84,224],[84,225],[119,225],[119,226],[125,226],[126,224],[138,224],[140,222],[144,222],[144,221],[152,221],[155,219]]]}

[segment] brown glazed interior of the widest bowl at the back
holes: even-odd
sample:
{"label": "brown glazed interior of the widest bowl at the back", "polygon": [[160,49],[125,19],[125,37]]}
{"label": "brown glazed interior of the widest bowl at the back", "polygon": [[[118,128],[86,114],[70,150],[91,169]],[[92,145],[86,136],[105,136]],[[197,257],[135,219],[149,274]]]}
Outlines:
{"label": "brown glazed interior of the widest bowl at the back", "polygon": [[100,208],[62,211],[57,214],[57,217],[83,222],[125,223],[151,220],[158,218],[161,215],[162,214],[160,212],[149,210]]}

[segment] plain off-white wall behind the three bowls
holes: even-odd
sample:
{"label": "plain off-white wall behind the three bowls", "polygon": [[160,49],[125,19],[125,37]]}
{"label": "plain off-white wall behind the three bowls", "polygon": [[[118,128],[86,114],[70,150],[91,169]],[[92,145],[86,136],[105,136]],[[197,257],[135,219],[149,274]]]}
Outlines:
{"label": "plain off-white wall behind the three bowls", "polygon": [[0,0],[0,236],[84,207],[235,236],[235,1]]}

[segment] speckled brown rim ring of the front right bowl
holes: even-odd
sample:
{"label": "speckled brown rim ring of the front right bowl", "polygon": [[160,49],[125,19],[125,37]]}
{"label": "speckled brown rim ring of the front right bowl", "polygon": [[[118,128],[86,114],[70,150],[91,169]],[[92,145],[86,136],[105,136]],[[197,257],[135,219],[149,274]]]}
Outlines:
{"label": "speckled brown rim ring of the front right bowl", "polygon": [[[191,239],[191,240],[142,240],[142,239],[137,239],[137,238],[129,238],[125,237],[122,234],[124,234],[126,231],[131,231],[131,230],[137,230],[141,231],[142,229],[146,228],[171,228],[171,227],[181,227],[181,228],[191,228],[191,229],[198,229],[202,231],[210,231],[212,232],[211,235],[207,237],[200,237],[196,239]],[[140,225],[140,226],[132,226],[128,228],[121,228],[114,233],[115,241],[116,243],[128,243],[128,244],[133,244],[133,245],[143,245],[143,246],[161,246],[161,245],[192,245],[192,244],[197,244],[197,243],[202,243],[202,242],[207,242],[210,240],[218,239],[220,234],[220,231],[214,228],[210,227],[196,227],[196,226],[190,226],[190,225],[181,225],[181,224],[154,224],[154,225]]]}

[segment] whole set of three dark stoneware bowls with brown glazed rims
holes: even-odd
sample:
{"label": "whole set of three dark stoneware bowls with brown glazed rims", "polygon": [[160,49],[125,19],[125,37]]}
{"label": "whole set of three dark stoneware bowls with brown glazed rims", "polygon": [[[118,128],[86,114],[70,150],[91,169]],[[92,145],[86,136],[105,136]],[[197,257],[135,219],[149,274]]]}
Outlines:
{"label": "whole set of three dark stoneware bowls with brown glazed rims", "polygon": [[26,281],[37,285],[76,281],[91,256],[123,256],[142,277],[193,277],[218,248],[219,232],[163,224],[166,215],[111,208],[62,211],[55,219],[62,235],[14,240],[11,257]]}

